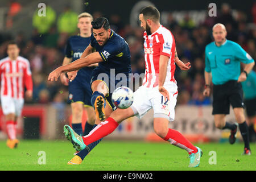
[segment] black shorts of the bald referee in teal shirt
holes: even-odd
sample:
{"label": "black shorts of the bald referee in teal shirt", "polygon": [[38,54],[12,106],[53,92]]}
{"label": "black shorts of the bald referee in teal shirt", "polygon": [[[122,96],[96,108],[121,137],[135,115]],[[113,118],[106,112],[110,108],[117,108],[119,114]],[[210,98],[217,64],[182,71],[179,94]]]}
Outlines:
{"label": "black shorts of the bald referee in teal shirt", "polygon": [[222,85],[213,85],[212,114],[229,114],[230,104],[233,108],[243,107],[241,82],[231,80]]}

